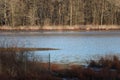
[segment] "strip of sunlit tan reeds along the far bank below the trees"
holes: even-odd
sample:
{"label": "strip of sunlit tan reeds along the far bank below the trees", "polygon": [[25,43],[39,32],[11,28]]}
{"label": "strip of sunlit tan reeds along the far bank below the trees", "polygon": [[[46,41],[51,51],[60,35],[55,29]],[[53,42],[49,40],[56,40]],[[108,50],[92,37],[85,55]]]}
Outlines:
{"label": "strip of sunlit tan reeds along the far bank below the trees", "polygon": [[1,26],[0,31],[97,31],[120,30],[120,25],[76,25],[76,26]]}

